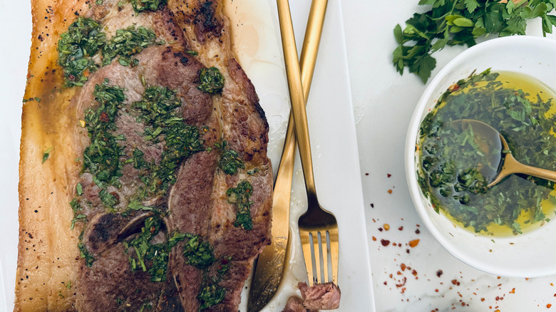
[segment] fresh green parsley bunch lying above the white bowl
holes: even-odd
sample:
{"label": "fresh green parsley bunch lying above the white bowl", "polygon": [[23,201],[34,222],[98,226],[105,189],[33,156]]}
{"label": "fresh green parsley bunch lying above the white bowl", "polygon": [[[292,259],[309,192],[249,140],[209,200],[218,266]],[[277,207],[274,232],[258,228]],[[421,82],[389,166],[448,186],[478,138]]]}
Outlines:
{"label": "fresh green parsley bunch lying above the white bowl", "polygon": [[525,35],[527,19],[542,19],[542,33],[552,33],[556,16],[548,13],[556,0],[420,0],[432,6],[423,14],[413,14],[402,30],[398,24],[394,36],[398,47],[393,51],[396,71],[403,74],[408,66],[423,83],[436,67],[432,53],[445,46],[475,45],[475,39],[498,33],[498,36]]}

